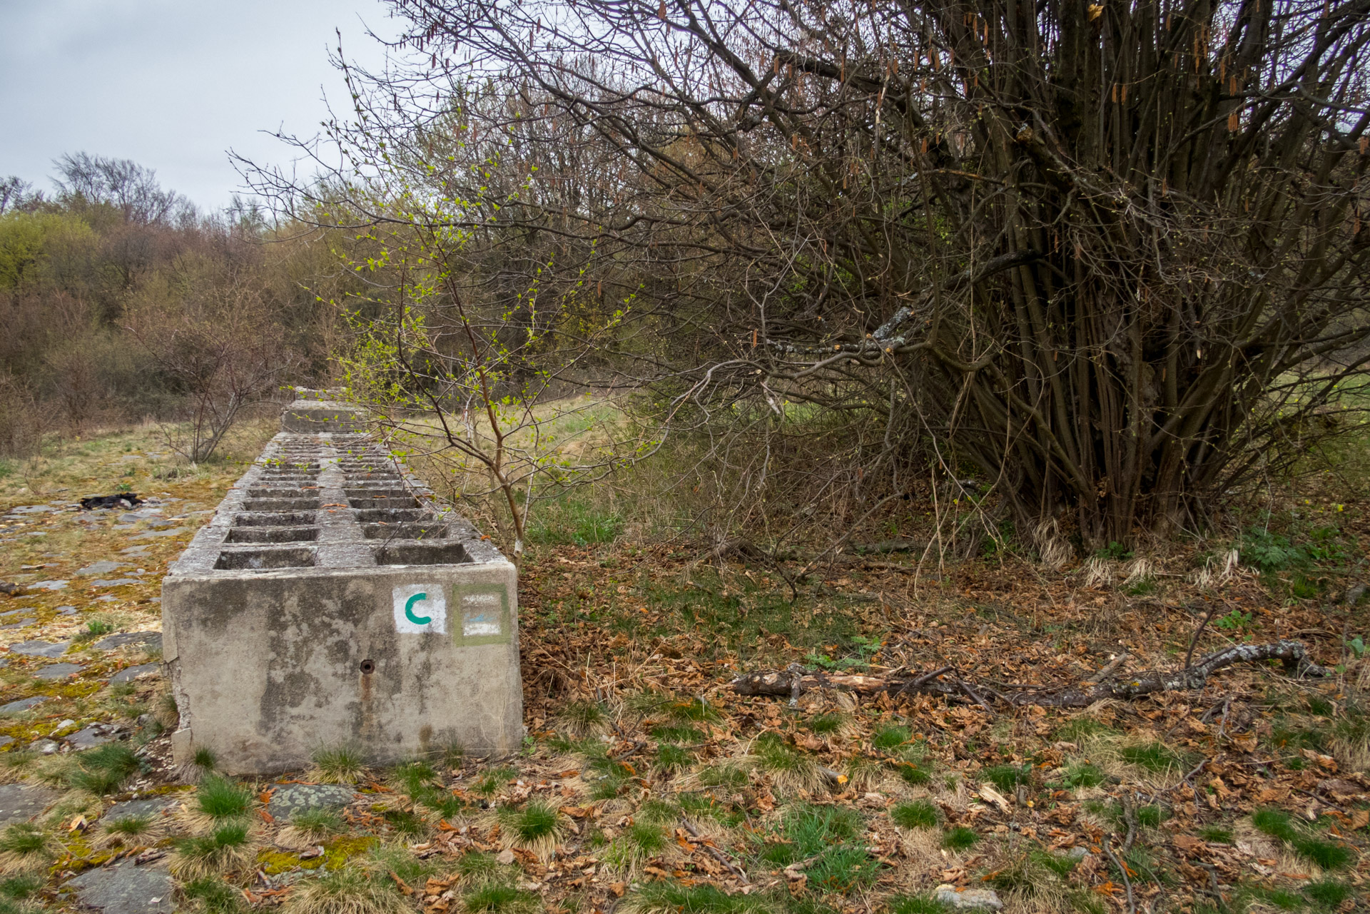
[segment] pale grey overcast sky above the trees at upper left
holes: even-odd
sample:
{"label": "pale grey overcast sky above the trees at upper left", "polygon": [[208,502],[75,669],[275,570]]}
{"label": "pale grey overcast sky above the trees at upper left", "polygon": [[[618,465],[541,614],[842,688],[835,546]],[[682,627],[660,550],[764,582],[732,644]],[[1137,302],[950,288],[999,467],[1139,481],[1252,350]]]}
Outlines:
{"label": "pale grey overcast sky above the trees at upper left", "polygon": [[[363,25],[364,23],[364,25]],[[208,208],[240,178],[226,151],[285,163],[263,130],[314,134],[329,66],[378,64],[393,33],[379,0],[0,0],[0,178],[51,189],[63,152],[133,159]]]}

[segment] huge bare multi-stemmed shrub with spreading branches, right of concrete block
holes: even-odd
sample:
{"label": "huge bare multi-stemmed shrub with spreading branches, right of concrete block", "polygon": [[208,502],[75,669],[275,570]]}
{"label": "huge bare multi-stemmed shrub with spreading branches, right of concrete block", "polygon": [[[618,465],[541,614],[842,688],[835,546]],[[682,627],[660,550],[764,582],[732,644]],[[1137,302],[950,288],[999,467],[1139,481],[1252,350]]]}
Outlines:
{"label": "huge bare multi-stemmed shrub with spreading branches, right of concrete block", "polygon": [[1370,0],[392,5],[369,129],[460,100],[490,251],[641,292],[600,377],[869,414],[867,492],[932,454],[1085,543],[1201,522],[1370,354]]}

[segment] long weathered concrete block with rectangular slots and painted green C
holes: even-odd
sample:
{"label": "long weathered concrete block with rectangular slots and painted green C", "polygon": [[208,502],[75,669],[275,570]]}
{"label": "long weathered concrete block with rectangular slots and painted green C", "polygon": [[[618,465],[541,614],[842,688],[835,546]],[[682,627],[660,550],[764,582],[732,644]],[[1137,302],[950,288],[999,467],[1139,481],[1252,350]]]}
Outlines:
{"label": "long weathered concrete block with rectangular slots and painted green C", "polygon": [[382,449],[282,432],[162,585],[177,762],[234,774],[523,737],[515,567]]}

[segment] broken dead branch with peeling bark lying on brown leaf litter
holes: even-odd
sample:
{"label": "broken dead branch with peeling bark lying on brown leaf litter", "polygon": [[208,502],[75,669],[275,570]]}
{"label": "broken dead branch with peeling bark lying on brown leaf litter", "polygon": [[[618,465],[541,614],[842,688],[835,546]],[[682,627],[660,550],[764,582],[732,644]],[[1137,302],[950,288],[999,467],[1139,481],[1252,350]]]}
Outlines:
{"label": "broken dead branch with peeling bark lying on brown leaf litter", "polygon": [[[1040,704],[1047,707],[1088,707],[1103,699],[1134,699],[1152,692],[1174,692],[1181,689],[1199,689],[1208,681],[1208,677],[1218,670],[1237,663],[1255,663],[1259,660],[1280,660],[1285,670],[1300,677],[1325,677],[1330,671],[1308,659],[1308,651],[1303,641],[1281,640],[1273,644],[1238,644],[1221,651],[1214,651],[1199,658],[1199,660],[1182,670],[1145,670],[1136,676],[1129,676],[1118,681],[1089,682],[1064,687],[1059,689],[1034,689],[1030,692],[1011,692],[1004,695],[993,689],[988,693],[1010,704]],[[795,699],[799,695],[817,688],[845,689],[866,695],[880,692],[918,692],[922,695],[941,695],[944,697],[963,697],[970,693],[984,704],[984,700],[966,687],[959,677],[951,682],[938,681],[952,667],[933,670],[930,674],[912,676],[838,676],[810,671],[792,665],[786,670],[758,670],[744,673],[729,685],[738,695],[777,695]]]}

